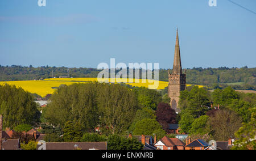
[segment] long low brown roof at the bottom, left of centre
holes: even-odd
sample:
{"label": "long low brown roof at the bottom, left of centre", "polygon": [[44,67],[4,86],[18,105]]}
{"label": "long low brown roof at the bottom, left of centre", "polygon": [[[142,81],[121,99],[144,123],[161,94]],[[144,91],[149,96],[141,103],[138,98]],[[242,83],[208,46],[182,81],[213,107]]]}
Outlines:
{"label": "long low brown roof at the bottom, left of centre", "polygon": [[47,142],[46,150],[107,150],[107,146],[107,142]]}

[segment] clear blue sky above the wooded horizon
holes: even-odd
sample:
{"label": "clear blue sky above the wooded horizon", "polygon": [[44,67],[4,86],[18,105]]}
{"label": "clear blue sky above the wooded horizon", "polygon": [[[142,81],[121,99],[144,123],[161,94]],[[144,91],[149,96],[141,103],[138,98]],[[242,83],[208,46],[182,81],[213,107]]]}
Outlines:
{"label": "clear blue sky above the wooded horizon", "polygon": [[[256,11],[255,0],[233,0]],[[217,0],[0,1],[0,65],[172,68],[176,27],[183,68],[256,67],[256,14]]]}

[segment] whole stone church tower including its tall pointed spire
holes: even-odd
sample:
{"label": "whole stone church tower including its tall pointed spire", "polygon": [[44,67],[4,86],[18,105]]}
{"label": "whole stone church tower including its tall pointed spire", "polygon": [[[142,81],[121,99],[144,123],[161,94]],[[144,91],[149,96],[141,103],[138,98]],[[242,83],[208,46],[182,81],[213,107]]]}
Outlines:
{"label": "whole stone church tower including its tall pointed spire", "polygon": [[176,45],[174,53],[174,67],[172,68],[172,73],[170,70],[169,75],[169,86],[168,86],[168,96],[171,99],[170,105],[172,109],[175,109],[176,112],[180,112],[178,107],[180,91],[186,89],[186,74],[182,73],[181,68],[181,59],[180,59],[180,45],[179,45],[179,36],[177,32],[176,36]]}

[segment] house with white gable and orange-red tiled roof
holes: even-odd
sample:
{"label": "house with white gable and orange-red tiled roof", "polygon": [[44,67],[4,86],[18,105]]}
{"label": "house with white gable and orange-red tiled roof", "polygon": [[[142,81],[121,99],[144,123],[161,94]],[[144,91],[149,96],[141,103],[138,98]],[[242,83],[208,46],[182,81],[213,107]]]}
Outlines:
{"label": "house with white gable and orange-red tiled roof", "polygon": [[178,138],[163,137],[155,143],[155,147],[159,150],[184,150],[185,143]]}

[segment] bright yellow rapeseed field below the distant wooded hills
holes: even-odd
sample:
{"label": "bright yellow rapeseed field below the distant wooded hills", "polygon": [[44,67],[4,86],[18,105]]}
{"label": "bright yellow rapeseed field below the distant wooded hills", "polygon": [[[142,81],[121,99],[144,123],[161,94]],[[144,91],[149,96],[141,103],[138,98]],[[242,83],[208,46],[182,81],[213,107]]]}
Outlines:
{"label": "bright yellow rapeseed field below the distant wooded hills", "polygon": [[[44,81],[9,81],[9,82],[0,82],[0,85],[5,83],[10,85],[15,85],[16,87],[22,87],[24,90],[36,93],[40,96],[46,96],[47,94],[53,94],[55,89],[54,87],[59,87],[61,84],[71,85],[73,83],[86,83],[86,82],[105,82],[108,79],[102,79],[98,81],[97,78],[51,78],[51,79],[44,79]],[[120,83],[120,82],[128,82],[127,79],[109,79],[111,83]],[[147,79],[133,79],[131,82],[126,84],[130,84],[131,86],[135,87],[149,87],[155,88],[158,90],[162,90],[168,86],[168,82],[163,81],[154,81],[147,80]],[[152,86],[155,84],[155,86]],[[191,84],[187,84],[187,86],[191,86]],[[203,87],[203,86],[199,86]]]}

